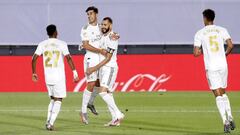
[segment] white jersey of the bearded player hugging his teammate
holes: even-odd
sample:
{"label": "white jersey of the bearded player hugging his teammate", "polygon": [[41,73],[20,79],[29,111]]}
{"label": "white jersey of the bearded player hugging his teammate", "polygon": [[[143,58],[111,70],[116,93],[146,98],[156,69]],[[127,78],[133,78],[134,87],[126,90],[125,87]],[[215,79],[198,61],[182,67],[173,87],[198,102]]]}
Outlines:
{"label": "white jersey of the bearded player hugging his teammate", "polygon": [[[118,40],[111,40],[110,35],[113,32],[108,33],[108,35],[103,35],[101,39],[101,48],[107,50],[107,52],[112,53],[111,60],[105,65],[109,67],[117,67],[117,50],[118,50]],[[100,55],[100,61],[104,60],[105,56]]]}

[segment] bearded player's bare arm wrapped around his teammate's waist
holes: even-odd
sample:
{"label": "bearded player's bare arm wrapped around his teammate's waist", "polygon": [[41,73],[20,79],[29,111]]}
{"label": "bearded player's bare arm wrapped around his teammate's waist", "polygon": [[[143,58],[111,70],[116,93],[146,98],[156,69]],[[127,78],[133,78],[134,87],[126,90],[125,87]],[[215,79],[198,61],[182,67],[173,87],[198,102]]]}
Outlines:
{"label": "bearded player's bare arm wrapped around his teammate's waist", "polygon": [[95,72],[98,69],[100,69],[105,64],[107,64],[111,60],[112,55],[113,55],[112,53],[107,53],[106,58],[103,61],[101,61],[99,64],[97,64],[96,66],[88,68],[87,71],[86,71],[86,74],[90,75],[93,72]]}

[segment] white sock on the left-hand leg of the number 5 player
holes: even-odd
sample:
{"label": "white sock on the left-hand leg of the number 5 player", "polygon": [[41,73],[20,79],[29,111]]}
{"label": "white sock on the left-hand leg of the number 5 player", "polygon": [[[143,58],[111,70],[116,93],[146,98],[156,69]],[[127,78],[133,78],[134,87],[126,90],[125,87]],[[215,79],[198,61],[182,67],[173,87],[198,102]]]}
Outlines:
{"label": "white sock on the left-hand leg of the number 5 player", "polygon": [[226,117],[225,104],[224,104],[222,96],[217,96],[216,97],[216,104],[217,104],[218,111],[219,111],[219,113],[222,117],[223,124],[225,124],[225,122],[227,120],[227,117]]}

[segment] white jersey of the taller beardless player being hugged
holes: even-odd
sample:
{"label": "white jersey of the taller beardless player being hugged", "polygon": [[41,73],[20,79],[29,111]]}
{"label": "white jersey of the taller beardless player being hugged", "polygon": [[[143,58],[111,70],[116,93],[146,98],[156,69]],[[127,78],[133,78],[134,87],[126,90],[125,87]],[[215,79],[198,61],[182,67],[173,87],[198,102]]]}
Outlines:
{"label": "white jersey of the taller beardless player being hugged", "polygon": [[[95,48],[100,48],[101,37],[102,35],[101,35],[99,24],[97,24],[96,26],[88,24],[82,28],[82,31],[81,31],[82,41],[89,41],[89,44]],[[80,48],[82,47],[80,46]],[[88,50],[86,50],[85,56],[99,59],[99,54],[88,51]]]}

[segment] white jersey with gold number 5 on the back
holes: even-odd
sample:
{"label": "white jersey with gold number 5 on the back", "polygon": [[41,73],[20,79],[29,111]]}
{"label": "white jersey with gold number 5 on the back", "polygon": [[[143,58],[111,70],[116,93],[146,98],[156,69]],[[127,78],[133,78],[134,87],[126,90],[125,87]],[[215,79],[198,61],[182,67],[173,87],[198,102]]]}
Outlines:
{"label": "white jersey with gold number 5 on the back", "polygon": [[224,43],[230,38],[225,28],[216,25],[207,25],[196,33],[194,46],[202,47],[205,69],[219,70],[227,67]]}

